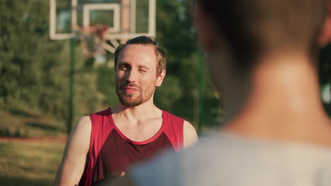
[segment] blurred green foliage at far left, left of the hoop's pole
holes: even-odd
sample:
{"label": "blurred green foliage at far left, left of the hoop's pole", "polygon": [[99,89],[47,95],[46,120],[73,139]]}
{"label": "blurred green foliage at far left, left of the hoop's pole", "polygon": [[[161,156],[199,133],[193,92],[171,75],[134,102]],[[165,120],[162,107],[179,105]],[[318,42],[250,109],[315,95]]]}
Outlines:
{"label": "blurred green foliage at far left, left of the hoop's pole", "polygon": [[[47,2],[0,1],[1,13],[0,94],[6,106],[56,111],[51,100],[62,97],[63,42],[54,43],[47,35]],[[49,55],[45,55],[49,54]]]}

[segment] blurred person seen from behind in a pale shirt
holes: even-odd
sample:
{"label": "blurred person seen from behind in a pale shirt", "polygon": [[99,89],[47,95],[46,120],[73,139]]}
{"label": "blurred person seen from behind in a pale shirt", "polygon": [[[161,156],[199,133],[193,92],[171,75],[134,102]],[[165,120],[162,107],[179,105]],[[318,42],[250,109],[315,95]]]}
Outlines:
{"label": "blurred person seen from behind in a pale shirt", "polygon": [[199,0],[194,13],[226,125],[114,185],[330,186],[331,122],[317,69],[331,1]]}

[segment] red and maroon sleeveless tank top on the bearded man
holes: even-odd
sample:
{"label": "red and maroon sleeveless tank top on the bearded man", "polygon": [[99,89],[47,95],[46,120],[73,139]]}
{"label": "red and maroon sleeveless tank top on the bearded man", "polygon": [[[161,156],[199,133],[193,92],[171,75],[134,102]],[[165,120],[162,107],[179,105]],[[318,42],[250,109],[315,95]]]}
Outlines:
{"label": "red and maroon sleeveless tank top on the bearded man", "polygon": [[79,185],[91,185],[103,178],[117,177],[133,163],[148,159],[170,147],[178,151],[183,146],[184,119],[162,111],[162,126],[156,135],[144,142],[125,137],[112,120],[110,108],[90,115],[92,122],[88,164]]}

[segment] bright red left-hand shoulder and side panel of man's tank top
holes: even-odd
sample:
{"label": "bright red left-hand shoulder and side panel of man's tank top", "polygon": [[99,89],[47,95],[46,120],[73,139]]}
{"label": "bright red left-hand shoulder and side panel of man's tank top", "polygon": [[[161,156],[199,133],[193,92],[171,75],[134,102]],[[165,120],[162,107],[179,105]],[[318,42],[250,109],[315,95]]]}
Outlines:
{"label": "bright red left-hand shoulder and side panel of man's tank top", "polygon": [[91,185],[93,169],[96,161],[98,160],[100,149],[103,147],[103,143],[113,129],[112,125],[110,125],[109,118],[111,114],[112,111],[110,108],[90,114],[92,128],[90,148],[88,151],[88,165],[81,181],[79,182],[79,185]]}

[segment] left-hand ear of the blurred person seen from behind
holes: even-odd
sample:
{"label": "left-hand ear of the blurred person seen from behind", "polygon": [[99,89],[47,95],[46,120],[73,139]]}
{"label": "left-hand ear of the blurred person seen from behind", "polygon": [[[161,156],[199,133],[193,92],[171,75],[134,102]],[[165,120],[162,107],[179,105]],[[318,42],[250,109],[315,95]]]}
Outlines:
{"label": "left-hand ear of the blurred person seen from behind", "polygon": [[214,51],[219,36],[216,31],[216,23],[199,2],[194,4],[194,25],[197,27],[199,42],[204,51]]}

